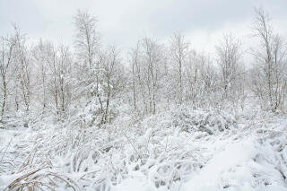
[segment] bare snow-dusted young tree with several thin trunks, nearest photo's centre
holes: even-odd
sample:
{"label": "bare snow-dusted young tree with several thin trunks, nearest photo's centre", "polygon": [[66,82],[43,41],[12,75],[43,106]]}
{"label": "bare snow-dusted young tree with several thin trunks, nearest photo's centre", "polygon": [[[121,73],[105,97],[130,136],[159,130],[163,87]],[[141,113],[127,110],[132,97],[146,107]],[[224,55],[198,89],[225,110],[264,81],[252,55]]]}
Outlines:
{"label": "bare snow-dusted young tree with several thin trunks, nearest photo's centre", "polygon": [[143,38],[130,53],[134,108],[137,104],[136,109],[143,111],[143,115],[155,114],[157,101],[161,100],[161,80],[166,62],[163,52],[161,44],[153,39]]}

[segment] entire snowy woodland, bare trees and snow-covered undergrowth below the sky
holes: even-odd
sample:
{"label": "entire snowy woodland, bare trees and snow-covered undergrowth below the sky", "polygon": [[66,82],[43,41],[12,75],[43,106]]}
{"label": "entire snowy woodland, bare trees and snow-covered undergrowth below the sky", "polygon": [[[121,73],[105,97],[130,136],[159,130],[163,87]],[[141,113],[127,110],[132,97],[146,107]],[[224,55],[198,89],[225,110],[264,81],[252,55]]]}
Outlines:
{"label": "entire snowy woodland, bare trees and snow-covered undergrowth below the sky", "polygon": [[13,23],[0,190],[287,190],[287,41],[264,9],[251,19],[253,47],[230,31],[214,55],[177,31],[107,46],[83,10],[70,45]]}

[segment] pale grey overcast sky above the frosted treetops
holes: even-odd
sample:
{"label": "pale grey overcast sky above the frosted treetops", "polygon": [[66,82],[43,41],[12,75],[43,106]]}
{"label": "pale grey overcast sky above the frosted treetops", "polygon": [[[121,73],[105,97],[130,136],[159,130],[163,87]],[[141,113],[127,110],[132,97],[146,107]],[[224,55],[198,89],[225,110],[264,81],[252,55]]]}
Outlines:
{"label": "pale grey overcast sky above the frosted treetops", "polygon": [[73,16],[88,10],[98,19],[105,44],[126,49],[144,35],[165,40],[183,32],[191,45],[213,51],[224,32],[243,44],[250,39],[254,7],[270,13],[274,29],[287,37],[287,0],[0,0],[0,35],[17,23],[30,39],[72,44]]}

